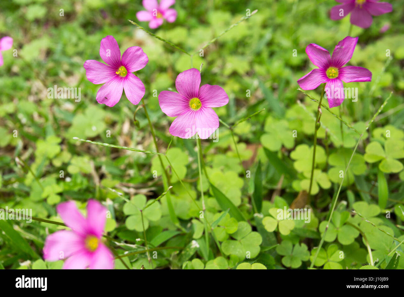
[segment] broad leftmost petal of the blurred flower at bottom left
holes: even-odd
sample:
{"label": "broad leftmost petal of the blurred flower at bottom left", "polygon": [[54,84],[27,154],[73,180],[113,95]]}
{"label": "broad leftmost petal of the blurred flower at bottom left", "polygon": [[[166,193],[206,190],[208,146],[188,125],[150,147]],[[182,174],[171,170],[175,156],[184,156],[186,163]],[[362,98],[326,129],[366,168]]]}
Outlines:
{"label": "broad leftmost petal of the blurred flower at bottom left", "polygon": [[84,237],[70,230],[60,230],[46,237],[44,259],[58,261],[84,249]]}

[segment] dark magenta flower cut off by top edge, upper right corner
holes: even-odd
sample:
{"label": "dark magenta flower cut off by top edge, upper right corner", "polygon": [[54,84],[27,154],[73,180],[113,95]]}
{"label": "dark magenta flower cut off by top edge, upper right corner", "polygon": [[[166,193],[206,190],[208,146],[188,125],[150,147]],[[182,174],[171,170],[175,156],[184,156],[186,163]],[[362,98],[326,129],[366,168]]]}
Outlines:
{"label": "dark magenta flower cut off by top edge, upper right corner", "polygon": [[351,13],[351,24],[368,28],[372,25],[372,15],[383,15],[393,10],[390,3],[379,0],[335,0],[339,3],[331,8],[330,16],[339,20]]}

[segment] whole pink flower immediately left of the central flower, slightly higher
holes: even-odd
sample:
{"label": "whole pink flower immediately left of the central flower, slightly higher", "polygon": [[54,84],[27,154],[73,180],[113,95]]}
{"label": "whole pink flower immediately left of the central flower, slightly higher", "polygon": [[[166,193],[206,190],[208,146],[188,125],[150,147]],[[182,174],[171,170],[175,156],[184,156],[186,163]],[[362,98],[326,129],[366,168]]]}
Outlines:
{"label": "whole pink flower immediately left of the central flower, slightly higher", "polygon": [[84,63],[87,79],[93,84],[104,84],[97,92],[97,102],[109,107],[114,106],[121,99],[122,90],[128,100],[137,104],[145,95],[145,85],[132,74],[144,68],[149,62],[147,55],[139,46],[131,46],[122,55],[113,36],[106,36],[101,40],[101,59],[108,65],[95,60]]}

